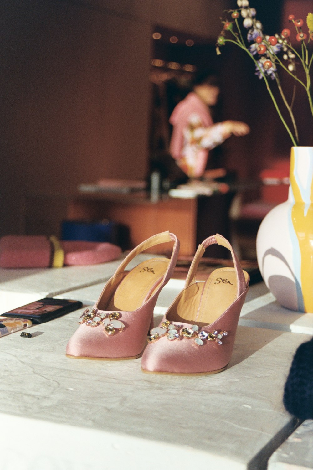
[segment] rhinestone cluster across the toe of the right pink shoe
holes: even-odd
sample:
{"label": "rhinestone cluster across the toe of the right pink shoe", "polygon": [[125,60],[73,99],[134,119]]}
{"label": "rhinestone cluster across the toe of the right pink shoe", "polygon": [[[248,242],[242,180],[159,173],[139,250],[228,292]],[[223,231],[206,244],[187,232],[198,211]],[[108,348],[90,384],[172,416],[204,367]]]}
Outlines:
{"label": "rhinestone cluster across the toe of the right pink shoe", "polygon": [[193,339],[197,346],[202,346],[204,341],[215,341],[218,345],[221,345],[223,337],[227,336],[227,331],[214,330],[207,333],[200,330],[197,325],[192,325],[190,328],[182,328],[180,325],[173,325],[170,321],[165,320],[161,323],[160,327],[151,329],[150,335],[148,343],[154,343],[164,336],[169,341],[182,338]]}

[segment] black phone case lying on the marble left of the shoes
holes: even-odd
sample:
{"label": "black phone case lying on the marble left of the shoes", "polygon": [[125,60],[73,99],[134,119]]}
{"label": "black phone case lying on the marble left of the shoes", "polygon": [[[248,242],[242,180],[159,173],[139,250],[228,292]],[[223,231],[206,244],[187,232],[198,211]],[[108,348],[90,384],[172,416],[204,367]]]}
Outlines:
{"label": "black phone case lying on the marble left of the shoes", "polygon": [[[39,303],[42,305],[40,306]],[[31,307],[32,305],[36,305],[37,308],[33,310],[29,310],[29,312],[23,313],[23,309],[25,307]],[[55,306],[55,310],[51,312],[42,312],[40,310],[45,309],[45,305],[47,308],[52,308]],[[83,306],[82,302],[79,300],[68,300],[68,299],[58,299],[58,298],[41,298],[40,300],[36,300],[35,302],[31,302],[30,304],[23,305],[21,307],[17,307],[9,312],[2,313],[1,317],[18,317],[18,318],[26,318],[32,321],[34,324],[45,323],[46,321],[53,320],[54,318],[58,318],[65,313],[73,312],[78,308]],[[37,311],[37,314],[36,314]]]}

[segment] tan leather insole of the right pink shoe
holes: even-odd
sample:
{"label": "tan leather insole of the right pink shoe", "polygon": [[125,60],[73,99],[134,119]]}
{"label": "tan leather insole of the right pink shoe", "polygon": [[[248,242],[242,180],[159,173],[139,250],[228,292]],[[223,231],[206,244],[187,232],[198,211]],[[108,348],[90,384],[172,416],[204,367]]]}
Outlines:
{"label": "tan leather insole of the right pink shoe", "polygon": [[[249,275],[243,271],[246,281]],[[208,325],[231,305],[237,297],[235,268],[215,269],[205,282],[196,282],[183,290],[179,301],[167,315],[170,321],[186,321]]]}

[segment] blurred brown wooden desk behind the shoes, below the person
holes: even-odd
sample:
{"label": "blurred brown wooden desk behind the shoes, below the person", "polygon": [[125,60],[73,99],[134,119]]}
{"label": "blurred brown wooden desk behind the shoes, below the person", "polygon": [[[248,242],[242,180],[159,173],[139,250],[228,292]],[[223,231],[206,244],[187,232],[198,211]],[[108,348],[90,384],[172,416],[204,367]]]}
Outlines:
{"label": "blurred brown wooden desk behind the shoes, below the person", "polygon": [[[170,230],[180,239],[180,255],[194,255],[207,236],[229,237],[228,210],[233,193],[180,199],[163,196],[152,201],[149,193],[121,195],[93,192],[74,195],[28,195],[25,198],[27,235],[60,235],[62,220],[114,220],[129,228],[131,249],[158,232]],[[223,258],[218,245],[209,256]]]}

